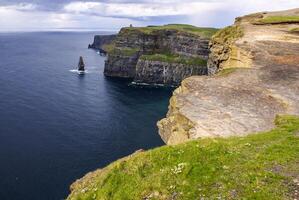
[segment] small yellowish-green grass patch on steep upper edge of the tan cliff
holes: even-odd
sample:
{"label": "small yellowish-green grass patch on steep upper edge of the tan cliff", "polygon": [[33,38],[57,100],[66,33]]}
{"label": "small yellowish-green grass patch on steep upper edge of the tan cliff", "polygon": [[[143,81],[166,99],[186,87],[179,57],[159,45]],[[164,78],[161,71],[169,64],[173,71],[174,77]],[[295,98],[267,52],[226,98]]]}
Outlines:
{"label": "small yellowish-green grass patch on steep upper edge of the tan cliff", "polygon": [[228,26],[224,29],[218,31],[213,37],[212,40],[218,43],[232,43],[238,38],[243,37],[244,32],[240,26]]}

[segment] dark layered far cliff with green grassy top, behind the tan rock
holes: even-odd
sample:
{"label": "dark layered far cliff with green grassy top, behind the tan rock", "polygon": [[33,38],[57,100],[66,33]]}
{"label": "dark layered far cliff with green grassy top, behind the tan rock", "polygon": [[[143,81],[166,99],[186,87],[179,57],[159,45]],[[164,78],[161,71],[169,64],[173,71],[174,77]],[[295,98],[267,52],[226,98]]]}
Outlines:
{"label": "dark layered far cliff with green grassy top, behind the tan rock", "polygon": [[105,47],[104,74],[162,85],[207,74],[209,38],[216,30],[179,24],[123,28]]}

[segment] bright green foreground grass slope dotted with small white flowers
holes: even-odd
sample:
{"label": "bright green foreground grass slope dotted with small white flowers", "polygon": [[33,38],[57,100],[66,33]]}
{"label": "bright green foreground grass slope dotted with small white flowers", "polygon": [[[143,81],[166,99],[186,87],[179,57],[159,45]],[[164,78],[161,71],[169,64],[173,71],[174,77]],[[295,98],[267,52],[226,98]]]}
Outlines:
{"label": "bright green foreground grass slope dotted with small white flowers", "polygon": [[275,123],[271,131],[246,137],[136,153],[89,174],[68,199],[292,199],[299,118],[278,116]]}

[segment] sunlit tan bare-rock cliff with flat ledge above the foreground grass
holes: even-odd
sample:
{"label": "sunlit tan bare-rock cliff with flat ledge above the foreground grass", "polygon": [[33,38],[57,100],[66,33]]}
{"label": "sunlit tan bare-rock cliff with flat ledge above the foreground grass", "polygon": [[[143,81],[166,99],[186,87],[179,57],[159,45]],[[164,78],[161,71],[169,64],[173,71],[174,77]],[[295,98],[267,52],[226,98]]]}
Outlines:
{"label": "sunlit tan bare-rock cliff with flat ledge above the foreground grass", "polygon": [[190,77],[174,92],[167,118],[158,123],[163,140],[246,135],[273,128],[278,113],[298,115],[298,27],[295,9],[237,18],[216,33],[211,76]]}

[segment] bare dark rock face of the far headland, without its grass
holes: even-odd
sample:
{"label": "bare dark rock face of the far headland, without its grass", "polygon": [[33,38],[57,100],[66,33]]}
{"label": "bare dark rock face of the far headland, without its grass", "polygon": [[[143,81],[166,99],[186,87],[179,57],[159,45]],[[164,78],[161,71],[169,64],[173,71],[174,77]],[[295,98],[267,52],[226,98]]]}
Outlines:
{"label": "bare dark rock face of the far headland, without its grass", "polygon": [[208,59],[208,44],[209,39],[188,32],[155,30],[148,33],[123,28],[113,40],[114,49],[108,52],[104,74],[134,78],[137,83],[178,85],[183,78],[207,74],[205,66],[144,62],[139,60],[140,56],[169,53]]}

